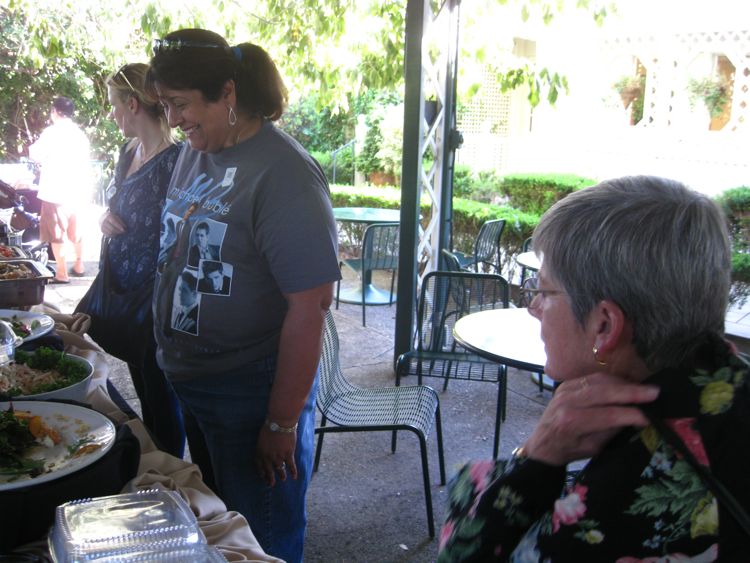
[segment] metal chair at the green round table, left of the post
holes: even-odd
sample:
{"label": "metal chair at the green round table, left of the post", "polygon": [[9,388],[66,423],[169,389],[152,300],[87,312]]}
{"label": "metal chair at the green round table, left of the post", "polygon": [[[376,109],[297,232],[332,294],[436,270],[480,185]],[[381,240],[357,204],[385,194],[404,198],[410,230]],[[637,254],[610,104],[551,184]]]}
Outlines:
{"label": "metal chair at the green round table, left of the post", "polygon": [[[393,286],[398,269],[399,224],[379,223],[365,229],[362,239],[362,252],[359,258],[342,260],[339,267],[347,266],[354,270],[362,285],[362,326],[366,326],[365,309],[367,292],[375,270],[391,270],[390,304],[393,304]],[[336,284],[336,308],[339,308],[341,280]]]}

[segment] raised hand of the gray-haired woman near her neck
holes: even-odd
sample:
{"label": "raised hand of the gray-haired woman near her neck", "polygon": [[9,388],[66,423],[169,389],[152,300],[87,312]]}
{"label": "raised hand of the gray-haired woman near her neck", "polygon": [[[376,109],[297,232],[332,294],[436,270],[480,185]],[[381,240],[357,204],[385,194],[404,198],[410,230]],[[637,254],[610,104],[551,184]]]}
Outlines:
{"label": "raised hand of the gray-haired woman near her neck", "polygon": [[658,387],[606,373],[565,381],[524,445],[524,453],[550,465],[592,457],[623,428],[648,426],[635,405],[650,403],[658,395]]}

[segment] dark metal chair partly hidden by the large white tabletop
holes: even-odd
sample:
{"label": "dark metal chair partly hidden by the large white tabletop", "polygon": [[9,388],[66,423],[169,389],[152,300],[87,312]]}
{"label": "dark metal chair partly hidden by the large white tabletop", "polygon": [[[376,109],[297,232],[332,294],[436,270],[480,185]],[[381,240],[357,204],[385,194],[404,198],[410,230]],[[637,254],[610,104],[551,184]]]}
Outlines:
{"label": "dark metal chair partly hidden by the large white tabletop", "polygon": [[444,391],[451,379],[497,384],[494,457],[499,450],[500,424],[505,419],[507,367],[459,345],[453,338],[453,326],[470,313],[508,306],[509,287],[502,276],[474,272],[428,273],[420,291],[414,347],[396,363],[396,385],[406,375],[416,375],[420,385],[423,377],[442,377]]}

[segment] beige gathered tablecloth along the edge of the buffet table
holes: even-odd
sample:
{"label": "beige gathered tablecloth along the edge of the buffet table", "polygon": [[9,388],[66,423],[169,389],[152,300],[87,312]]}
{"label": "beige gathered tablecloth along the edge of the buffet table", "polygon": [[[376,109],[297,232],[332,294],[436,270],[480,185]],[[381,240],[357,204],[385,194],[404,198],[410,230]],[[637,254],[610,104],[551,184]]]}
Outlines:
{"label": "beige gathered tablecloth along the edge of the buffet table", "polygon": [[[195,513],[208,543],[215,546],[228,561],[281,561],[266,555],[255,539],[245,518],[227,511],[224,503],[202,481],[195,464],[159,451],[139,419],[129,419],[107,393],[109,363],[105,352],[84,336],[89,326],[87,315],[65,315],[49,309],[42,312],[55,320],[55,330],[62,337],[66,352],[82,356],[94,366],[94,379],[88,401],[97,411],[118,423],[126,424],[141,445],[138,474],[121,492],[143,489],[177,491]],[[46,538],[27,544],[16,551],[32,553],[49,560]]]}

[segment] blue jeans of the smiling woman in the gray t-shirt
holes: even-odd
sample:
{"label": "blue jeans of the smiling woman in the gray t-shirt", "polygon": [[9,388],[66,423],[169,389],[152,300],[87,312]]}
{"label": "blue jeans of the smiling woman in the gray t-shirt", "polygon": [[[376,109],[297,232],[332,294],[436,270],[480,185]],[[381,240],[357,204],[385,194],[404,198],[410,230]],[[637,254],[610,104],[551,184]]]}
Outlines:
{"label": "blue jeans of the smiling woman in the gray t-shirt", "polygon": [[261,547],[290,563],[302,561],[315,441],[315,384],[297,429],[296,480],[269,487],[255,470],[255,446],[266,419],[276,358],[242,372],[173,381],[182,406],[190,455],[204,481],[250,523]]}

